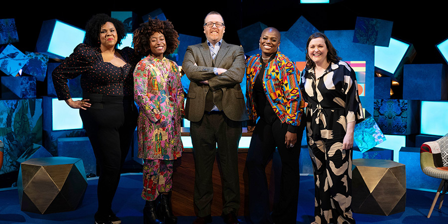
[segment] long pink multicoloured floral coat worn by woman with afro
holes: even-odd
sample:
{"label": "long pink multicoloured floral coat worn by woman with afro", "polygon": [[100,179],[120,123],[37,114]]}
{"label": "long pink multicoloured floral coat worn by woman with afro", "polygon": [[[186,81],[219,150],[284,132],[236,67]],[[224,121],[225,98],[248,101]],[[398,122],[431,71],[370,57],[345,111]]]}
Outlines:
{"label": "long pink multicoloured floral coat worn by woman with afro", "polygon": [[182,155],[184,95],[177,64],[148,56],[134,71],[138,157],[173,160]]}

